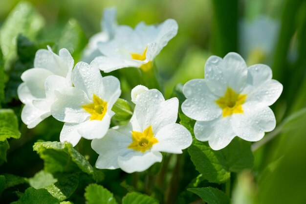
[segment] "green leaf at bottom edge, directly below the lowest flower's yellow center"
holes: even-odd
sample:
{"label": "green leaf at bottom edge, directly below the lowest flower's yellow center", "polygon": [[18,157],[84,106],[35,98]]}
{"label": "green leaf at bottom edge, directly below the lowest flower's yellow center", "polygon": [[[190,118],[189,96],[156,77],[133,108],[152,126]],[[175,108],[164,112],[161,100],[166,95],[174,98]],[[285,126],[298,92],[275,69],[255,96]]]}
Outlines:
{"label": "green leaf at bottom edge, directly below the lowest flower's yellow center", "polygon": [[128,193],[122,199],[122,204],[158,204],[155,199],[150,196],[143,195],[136,192]]}

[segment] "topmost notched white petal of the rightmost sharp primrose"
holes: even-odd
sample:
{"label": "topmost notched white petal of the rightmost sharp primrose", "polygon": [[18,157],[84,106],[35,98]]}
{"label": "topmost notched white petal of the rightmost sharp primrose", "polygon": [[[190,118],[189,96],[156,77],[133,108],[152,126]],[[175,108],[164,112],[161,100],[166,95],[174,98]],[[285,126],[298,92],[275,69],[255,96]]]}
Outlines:
{"label": "topmost notched white petal of the rightmost sharp primrose", "polygon": [[246,78],[246,64],[235,52],[228,53],[223,59],[211,56],[206,61],[206,84],[216,95],[223,96],[228,87],[240,93],[245,86]]}

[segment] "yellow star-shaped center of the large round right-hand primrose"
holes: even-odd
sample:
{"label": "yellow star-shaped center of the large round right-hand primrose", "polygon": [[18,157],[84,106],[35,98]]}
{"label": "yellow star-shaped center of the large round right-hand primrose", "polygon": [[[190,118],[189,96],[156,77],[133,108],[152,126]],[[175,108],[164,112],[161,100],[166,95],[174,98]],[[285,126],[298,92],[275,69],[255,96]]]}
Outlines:
{"label": "yellow star-shaped center of the large round right-hand primrose", "polygon": [[220,97],[216,103],[222,109],[222,116],[226,117],[233,113],[243,113],[242,104],[245,102],[246,94],[237,94],[231,88],[227,88],[225,95]]}

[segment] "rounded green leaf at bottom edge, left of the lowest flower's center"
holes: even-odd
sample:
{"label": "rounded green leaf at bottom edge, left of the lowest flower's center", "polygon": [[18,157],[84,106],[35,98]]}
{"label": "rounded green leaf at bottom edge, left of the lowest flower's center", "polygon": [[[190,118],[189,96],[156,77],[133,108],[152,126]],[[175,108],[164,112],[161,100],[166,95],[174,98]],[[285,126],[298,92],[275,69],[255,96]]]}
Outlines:
{"label": "rounded green leaf at bottom edge, left of the lowest flower's center", "polygon": [[92,183],[85,189],[87,204],[117,204],[113,194],[101,185]]}

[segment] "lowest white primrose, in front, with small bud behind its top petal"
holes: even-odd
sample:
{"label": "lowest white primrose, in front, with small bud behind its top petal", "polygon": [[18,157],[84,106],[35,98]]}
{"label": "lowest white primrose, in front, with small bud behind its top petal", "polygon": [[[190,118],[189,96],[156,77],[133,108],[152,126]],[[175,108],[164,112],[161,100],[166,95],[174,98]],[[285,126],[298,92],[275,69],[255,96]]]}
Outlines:
{"label": "lowest white primrose, in front, with small bud behind its top petal", "polygon": [[181,154],[192,143],[190,132],[175,123],[177,98],[164,99],[152,89],[138,96],[131,121],[109,129],[102,139],[94,139],[91,147],[99,157],[96,167],[141,172],[161,162],[160,152]]}

